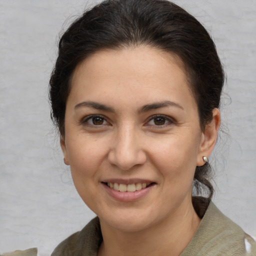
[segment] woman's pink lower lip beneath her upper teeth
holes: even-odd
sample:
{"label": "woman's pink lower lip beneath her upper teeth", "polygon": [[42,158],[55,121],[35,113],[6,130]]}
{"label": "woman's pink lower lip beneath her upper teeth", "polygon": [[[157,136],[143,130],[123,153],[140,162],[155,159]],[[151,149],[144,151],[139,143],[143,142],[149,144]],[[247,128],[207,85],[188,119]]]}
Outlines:
{"label": "woman's pink lower lip beneath her upper teeth", "polygon": [[102,186],[104,187],[104,189],[106,190],[106,192],[113,197],[114,199],[118,200],[118,201],[125,201],[125,202],[129,202],[129,201],[135,201],[138,200],[140,198],[142,198],[143,196],[145,196],[147,193],[149,193],[149,191],[152,189],[152,187],[154,185],[150,185],[148,187],[142,188],[140,190],[136,190],[134,192],[121,192],[121,191],[116,191],[113,188],[110,188],[109,186],[107,186],[104,183],[101,183]]}

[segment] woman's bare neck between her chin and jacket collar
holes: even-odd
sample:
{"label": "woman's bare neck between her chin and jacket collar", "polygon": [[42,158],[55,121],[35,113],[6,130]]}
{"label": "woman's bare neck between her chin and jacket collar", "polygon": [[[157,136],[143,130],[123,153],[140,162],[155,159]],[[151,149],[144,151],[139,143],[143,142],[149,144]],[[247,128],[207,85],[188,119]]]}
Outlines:
{"label": "woman's bare neck between her chin and jacket collar", "polygon": [[136,232],[120,231],[100,221],[103,241],[98,256],[179,255],[200,223],[192,202],[180,210],[164,221]]}

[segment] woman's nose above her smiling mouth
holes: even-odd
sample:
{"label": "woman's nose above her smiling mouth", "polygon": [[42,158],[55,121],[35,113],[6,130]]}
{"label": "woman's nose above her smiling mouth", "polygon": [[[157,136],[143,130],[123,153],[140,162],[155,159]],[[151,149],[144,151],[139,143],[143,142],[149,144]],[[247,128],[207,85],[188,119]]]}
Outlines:
{"label": "woman's nose above her smiling mouth", "polygon": [[108,162],[122,170],[129,170],[146,161],[142,139],[134,127],[123,127],[115,133],[108,153]]}

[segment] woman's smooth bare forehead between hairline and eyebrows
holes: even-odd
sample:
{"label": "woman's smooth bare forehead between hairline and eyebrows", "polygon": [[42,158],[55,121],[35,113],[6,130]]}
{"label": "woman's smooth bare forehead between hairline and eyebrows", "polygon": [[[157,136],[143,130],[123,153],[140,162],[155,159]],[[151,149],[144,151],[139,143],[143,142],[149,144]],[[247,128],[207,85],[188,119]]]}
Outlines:
{"label": "woman's smooth bare forehead between hairline and eyebrows", "polygon": [[124,96],[120,92],[127,100],[135,96],[142,100],[142,95],[150,100],[167,94],[192,96],[181,60],[149,46],[97,51],[75,68],[71,97]]}

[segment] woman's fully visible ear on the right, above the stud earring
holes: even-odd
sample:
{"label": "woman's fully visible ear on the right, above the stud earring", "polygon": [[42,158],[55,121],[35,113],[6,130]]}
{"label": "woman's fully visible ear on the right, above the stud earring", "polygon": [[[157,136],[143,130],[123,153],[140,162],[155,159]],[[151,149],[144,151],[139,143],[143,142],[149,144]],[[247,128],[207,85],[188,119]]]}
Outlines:
{"label": "woman's fully visible ear on the right, above the stud earring", "polygon": [[214,108],[212,110],[212,119],[211,121],[205,126],[204,131],[202,132],[201,142],[197,154],[197,166],[202,166],[204,164],[203,156],[209,157],[211,154],[216,140],[218,129],[220,125],[220,112],[218,108]]}

